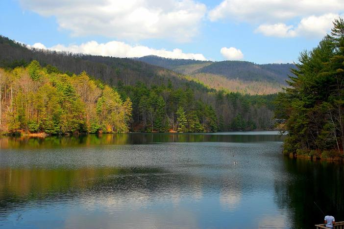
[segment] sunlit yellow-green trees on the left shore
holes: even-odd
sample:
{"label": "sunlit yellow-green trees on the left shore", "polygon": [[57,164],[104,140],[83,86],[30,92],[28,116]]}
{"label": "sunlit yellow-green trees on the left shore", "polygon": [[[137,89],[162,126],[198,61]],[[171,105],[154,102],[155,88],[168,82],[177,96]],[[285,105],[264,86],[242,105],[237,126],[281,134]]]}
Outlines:
{"label": "sunlit yellow-green trees on the left shore", "polygon": [[0,132],[75,134],[128,132],[132,103],[113,88],[79,75],[42,68],[0,69]]}

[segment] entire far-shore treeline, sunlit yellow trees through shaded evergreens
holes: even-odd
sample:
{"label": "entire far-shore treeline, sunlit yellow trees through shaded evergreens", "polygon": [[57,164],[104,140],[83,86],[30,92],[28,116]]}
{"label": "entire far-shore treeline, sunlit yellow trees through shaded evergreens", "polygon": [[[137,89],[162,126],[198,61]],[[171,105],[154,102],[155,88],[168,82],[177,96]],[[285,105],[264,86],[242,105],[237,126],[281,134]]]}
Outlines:
{"label": "entire far-shore treeline, sunlit yellow trees through shaded evergreens", "polygon": [[[198,98],[197,98],[198,97]],[[0,70],[2,133],[216,132],[273,128],[274,95],[223,91],[199,98],[191,88],[110,87],[86,72],[68,75],[37,61]]]}

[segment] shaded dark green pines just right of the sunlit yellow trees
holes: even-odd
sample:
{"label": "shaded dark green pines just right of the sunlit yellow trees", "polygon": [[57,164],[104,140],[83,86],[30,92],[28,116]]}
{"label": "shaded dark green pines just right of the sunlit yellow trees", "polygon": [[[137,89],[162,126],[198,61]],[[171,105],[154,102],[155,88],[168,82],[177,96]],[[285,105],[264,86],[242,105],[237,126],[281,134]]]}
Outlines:
{"label": "shaded dark green pines just right of the sunlit yellow trees", "polygon": [[142,82],[124,86],[119,82],[118,92],[122,98],[129,97],[133,103],[132,130],[143,132],[216,132],[218,120],[215,110],[187,88],[173,89],[168,85],[152,85]]}

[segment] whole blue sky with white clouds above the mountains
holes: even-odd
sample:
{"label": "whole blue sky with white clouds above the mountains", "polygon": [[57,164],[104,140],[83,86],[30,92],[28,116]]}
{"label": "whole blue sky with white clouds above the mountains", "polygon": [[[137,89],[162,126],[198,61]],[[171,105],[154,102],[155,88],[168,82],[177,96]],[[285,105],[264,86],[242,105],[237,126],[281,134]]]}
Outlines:
{"label": "whole blue sky with white clouds above the mountains", "polygon": [[287,63],[317,46],[341,1],[1,0],[0,34],[98,55]]}

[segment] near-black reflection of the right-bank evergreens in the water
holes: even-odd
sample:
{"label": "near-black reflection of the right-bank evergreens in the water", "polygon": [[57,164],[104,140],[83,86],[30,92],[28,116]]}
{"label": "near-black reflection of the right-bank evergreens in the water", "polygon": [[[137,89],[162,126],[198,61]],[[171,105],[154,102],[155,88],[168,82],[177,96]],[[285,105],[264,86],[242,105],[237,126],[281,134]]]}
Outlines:
{"label": "near-black reflection of the right-bank evergreens in the water", "polygon": [[286,176],[275,180],[275,202],[289,209],[292,227],[314,228],[323,222],[314,201],[336,221],[344,220],[342,164],[285,158],[284,167]]}

